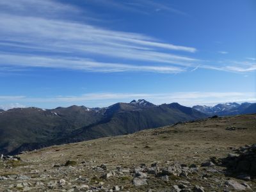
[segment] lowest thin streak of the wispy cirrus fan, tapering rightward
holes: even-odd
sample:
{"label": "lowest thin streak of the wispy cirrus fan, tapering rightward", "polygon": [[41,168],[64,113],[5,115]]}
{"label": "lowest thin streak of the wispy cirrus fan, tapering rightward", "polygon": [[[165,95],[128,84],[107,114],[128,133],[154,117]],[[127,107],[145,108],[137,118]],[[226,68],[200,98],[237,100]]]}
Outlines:
{"label": "lowest thin streak of the wispy cirrus fan, tapering rightward", "polygon": [[81,58],[53,58],[44,56],[0,54],[0,63],[8,63],[13,67],[48,67],[66,68],[72,70],[83,70],[91,72],[157,72],[177,73],[184,71],[184,68],[158,65],[128,65],[124,63],[103,63],[90,59]]}

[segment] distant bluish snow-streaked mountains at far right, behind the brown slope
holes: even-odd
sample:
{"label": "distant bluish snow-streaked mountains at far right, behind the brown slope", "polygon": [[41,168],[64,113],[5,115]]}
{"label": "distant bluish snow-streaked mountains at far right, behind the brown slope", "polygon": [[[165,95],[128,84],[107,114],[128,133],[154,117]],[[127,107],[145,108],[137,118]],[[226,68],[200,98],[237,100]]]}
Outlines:
{"label": "distant bluish snow-streaked mountains at far right, behind the brown slope", "polygon": [[[251,107],[252,106],[252,107]],[[239,114],[246,114],[247,108],[249,109],[251,113],[256,113],[253,111],[256,111],[255,104],[244,102],[242,104],[237,104],[236,102],[228,102],[225,104],[217,104],[216,106],[210,107],[210,106],[193,106],[193,109],[196,109],[202,113],[205,113],[207,115],[239,115]]]}

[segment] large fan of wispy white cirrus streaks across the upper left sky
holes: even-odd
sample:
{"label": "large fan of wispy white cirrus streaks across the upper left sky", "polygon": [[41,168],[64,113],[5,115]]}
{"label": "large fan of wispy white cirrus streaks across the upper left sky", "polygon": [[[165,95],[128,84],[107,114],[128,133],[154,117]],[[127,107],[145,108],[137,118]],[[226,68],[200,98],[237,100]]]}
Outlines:
{"label": "large fan of wispy white cirrus streaks across the upper left sky", "polygon": [[[93,72],[173,73],[184,71],[180,66],[189,67],[196,61],[195,58],[169,52],[195,52],[194,47],[161,42],[139,33],[63,20],[63,13],[79,12],[76,7],[67,4],[49,0],[36,3],[13,0],[12,3],[1,1],[0,4],[0,65],[4,67],[16,65]],[[40,10],[47,8],[51,14],[45,17],[47,14],[42,14]],[[99,56],[115,62],[99,61]]]}

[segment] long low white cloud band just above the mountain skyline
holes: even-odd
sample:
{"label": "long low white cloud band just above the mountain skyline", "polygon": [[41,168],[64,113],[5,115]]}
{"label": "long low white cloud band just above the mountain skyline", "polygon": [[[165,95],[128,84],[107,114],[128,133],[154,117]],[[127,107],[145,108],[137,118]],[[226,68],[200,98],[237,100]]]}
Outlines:
{"label": "long low white cloud band just above the mountain skyline", "polygon": [[185,106],[196,104],[214,105],[223,102],[256,102],[255,92],[173,92],[173,93],[86,93],[83,95],[56,96],[56,97],[13,97],[9,102],[47,105],[71,106],[72,104],[87,107],[106,107],[106,104],[115,102],[130,102],[133,99],[147,99],[154,104],[179,102]]}

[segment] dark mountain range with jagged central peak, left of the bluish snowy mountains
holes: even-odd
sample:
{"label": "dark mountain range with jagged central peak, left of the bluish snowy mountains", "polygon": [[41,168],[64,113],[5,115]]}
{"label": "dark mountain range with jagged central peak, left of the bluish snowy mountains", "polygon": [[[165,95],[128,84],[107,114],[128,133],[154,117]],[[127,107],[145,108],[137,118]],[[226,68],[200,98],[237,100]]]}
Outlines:
{"label": "dark mountain range with jagged central peak, left of the bluish snowy mountains", "polygon": [[177,103],[156,106],[147,100],[108,108],[16,108],[0,113],[0,154],[127,134],[207,115]]}

